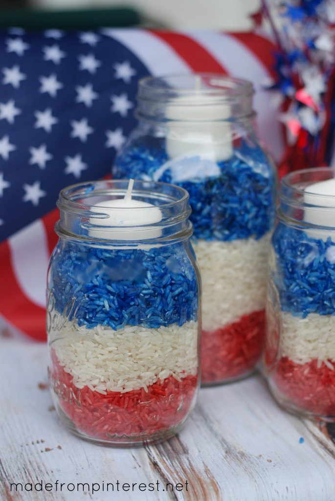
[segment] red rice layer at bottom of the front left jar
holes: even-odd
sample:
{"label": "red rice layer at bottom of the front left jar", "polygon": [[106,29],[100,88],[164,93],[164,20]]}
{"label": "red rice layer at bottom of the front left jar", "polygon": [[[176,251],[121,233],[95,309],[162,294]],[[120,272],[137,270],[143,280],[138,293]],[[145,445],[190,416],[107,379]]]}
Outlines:
{"label": "red rice layer at bottom of the front left jar", "polygon": [[[58,388],[67,388],[66,400],[58,397],[60,406],[76,428],[92,438],[122,442],[159,436],[187,417],[196,396],[197,376],[186,376],[181,381],[170,376],[149,386],[148,392],[142,388],[102,395],[88,386],[79,390],[54,350],[52,359],[51,379],[58,380]],[[80,405],[74,397],[79,400],[79,394]]]}

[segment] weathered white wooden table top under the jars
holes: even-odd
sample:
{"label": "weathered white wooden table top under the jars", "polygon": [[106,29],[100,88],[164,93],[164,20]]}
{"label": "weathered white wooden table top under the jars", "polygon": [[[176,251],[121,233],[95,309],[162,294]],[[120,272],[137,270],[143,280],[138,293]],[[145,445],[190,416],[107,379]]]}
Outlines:
{"label": "weathered white wooden table top under the jars", "polygon": [[[327,427],[279,409],[261,376],[202,389],[178,436],[131,449],[93,445],[63,428],[45,387],[45,344],[0,339],[0,378],[1,501],[335,499]],[[41,481],[49,490],[39,490]],[[24,490],[11,490],[14,482]]]}

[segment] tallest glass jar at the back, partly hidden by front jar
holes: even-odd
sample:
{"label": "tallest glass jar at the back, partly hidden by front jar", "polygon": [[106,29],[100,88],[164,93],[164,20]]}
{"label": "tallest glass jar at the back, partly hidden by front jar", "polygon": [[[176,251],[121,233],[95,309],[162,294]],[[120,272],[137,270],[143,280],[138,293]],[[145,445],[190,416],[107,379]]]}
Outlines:
{"label": "tallest glass jar at the back, partly hidden by front jar", "polygon": [[262,352],[277,181],[253,128],[252,95],[251,83],[222,75],[144,78],[138,127],[112,171],[190,194],[203,287],[203,385],[249,375]]}

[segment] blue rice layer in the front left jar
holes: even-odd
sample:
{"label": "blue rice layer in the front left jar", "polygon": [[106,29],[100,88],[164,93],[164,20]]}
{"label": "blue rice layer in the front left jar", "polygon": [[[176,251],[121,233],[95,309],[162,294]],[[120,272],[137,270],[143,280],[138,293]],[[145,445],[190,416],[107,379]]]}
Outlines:
{"label": "blue rice layer in the front left jar", "polygon": [[182,243],[146,251],[63,242],[52,258],[49,288],[57,311],[88,328],[197,320],[197,280]]}

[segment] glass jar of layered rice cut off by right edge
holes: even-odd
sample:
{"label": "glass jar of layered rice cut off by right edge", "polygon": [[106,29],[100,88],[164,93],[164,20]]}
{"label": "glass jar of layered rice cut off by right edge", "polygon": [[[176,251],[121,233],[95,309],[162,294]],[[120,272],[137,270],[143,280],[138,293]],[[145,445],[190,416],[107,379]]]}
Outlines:
{"label": "glass jar of layered rice cut off by right edge", "polygon": [[269,255],[264,366],[285,409],[335,419],[335,179],[318,167],[283,177]]}

